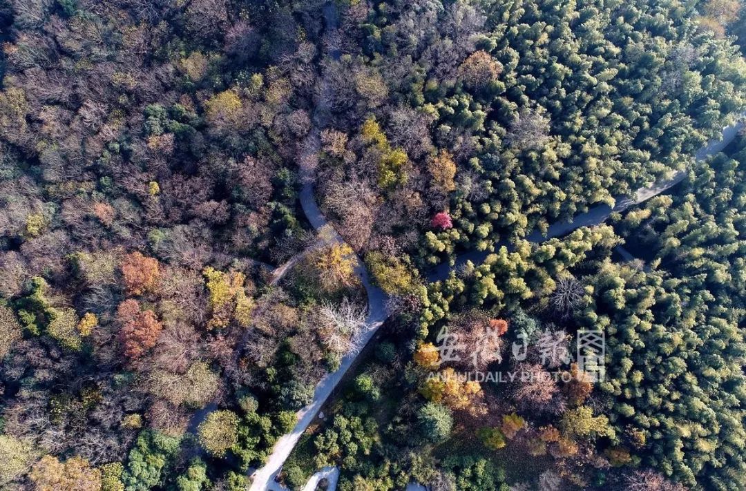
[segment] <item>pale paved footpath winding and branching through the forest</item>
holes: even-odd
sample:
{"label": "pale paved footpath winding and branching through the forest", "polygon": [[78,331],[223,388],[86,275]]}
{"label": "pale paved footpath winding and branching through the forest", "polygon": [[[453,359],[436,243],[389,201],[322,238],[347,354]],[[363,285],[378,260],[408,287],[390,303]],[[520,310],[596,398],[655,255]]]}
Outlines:
{"label": "pale paved footpath winding and branching through the forest", "polygon": [[[323,7],[323,14],[325,17],[327,34],[333,34],[333,31],[336,31],[337,26],[339,25],[336,6],[331,2],[325,4]],[[336,60],[339,58],[339,51],[333,49],[332,51],[327,52],[327,56]],[[317,87],[315,107],[313,110],[313,125],[304,141],[302,146],[303,150],[301,151],[300,166],[303,187],[301,189],[300,201],[301,207],[303,207],[303,211],[310,224],[313,225],[313,228],[317,231],[324,229],[325,233],[330,236],[330,242],[343,243],[344,240],[342,240],[342,237],[340,237],[333,227],[329,225],[324,214],[319,209],[319,205],[316,203],[316,199],[313,195],[314,172],[318,164],[319,149],[321,148],[320,134],[328,119],[329,110],[327,107],[327,100],[330,90],[326,78],[322,77],[319,81],[319,87]],[[713,141],[708,146],[701,148],[696,155],[697,159],[702,160],[709,155],[723,150],[723,148],[733,141],[736,134],[738,134],[742,128],[744,128],[744,122],[742,121],[724,128],[721,140]],[[585,213],[580,213],[580,215],[576,216],[571,222],[557,222],[550,225],[546,234],[534,231],[527,237],[527,240],[533,243],[540,243],[553,237],[562,237],[577,228],[600,225],[609,218],[612,213],[621,212],[630,206],[642,203],[642,201],[663,193],[665,190],[668,190],[668,188],[682,181],[685,176],[686,172],[677,172],[668,180],[659,181],[651,187],[643,187],[637,190],[636,195],[633,198],[618,198],[614,207],[610,207],[607,204],[592,207]],[[436,269],[433,269],[433,272],[428,275],[428,280],[439,281],[448,278],[451,269],[454,269],[454,267],[458,267],[467,261],[477,264],[481,263],[489,254],[491,254],[490,251],[471,251],[466,254],[461,254],[457,258],[454,266],[444,263]],[[368,329],[362,334],[363,345],[366,345],[372,339],[377,329],[380,328],[386,320],[386,294],[383,293],[380,288],[372,284],[369,273],[363,265],[363,261],[360,260],[360,257],[357,257],[356,255],[354,259],[357,262],[355,266],[355,275],[360,279],[360,283],[365,287],[366,293],[368,294]],[[284,267],[280,272],[280,276],[283,275],[287,269],[292,267],[292,264],[294,263],[295,262],[292,260],[289,261],[289,264],[286,264],[286,267]],[[316,417],[316,414],[319,413],[322,405],[327,401],[330,395],[333,394],[336,385],[339,384],[339,381],[342,380],[342,377],[344,377],[345,373],[348,372],[348,369],[350,369],[356,358],[357,354],[348,354],[342,359],[342,363],[336,372],[325,375],[325,377],[319,381],[319,384],[316,386],[316,392],[313,395],[313,401],[298,411],[298,423],[295,425],[295,428],[293,428],[289,434],[280,437],[280,439],[275,443],[275,447],[272,448],[272,454],[269,456],[265,465],[260,469],[257,469],[251,475],[252,483],[249,488],[251,491],[286,491],[286,488],[275,482],[275,477],[278,475],[278,472],[280,472],[283,463],[292,449],[298,443],[301,434],[303,434],[303,432],[308,428],[310,423]],[[327,491],[335,490],[336,481],[339,478],[339,469],[336,469],[335,467],[325,467],[317,472],[310,478],[310,481],[308,481],[304,487],[304,491],[316,490],[316,486],[322,478],[327,479]]]}

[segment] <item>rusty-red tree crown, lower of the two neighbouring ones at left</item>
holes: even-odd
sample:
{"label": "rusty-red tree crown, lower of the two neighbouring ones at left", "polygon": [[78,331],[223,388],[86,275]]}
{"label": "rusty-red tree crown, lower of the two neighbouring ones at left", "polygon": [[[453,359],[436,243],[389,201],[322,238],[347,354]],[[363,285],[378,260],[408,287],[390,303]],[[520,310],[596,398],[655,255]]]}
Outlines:
{"label": "rusty-red tree crown, lower of the two neighbouring ones at left", "polygon": [[131,360],[152,348],[163,328],[152,310],[140,310],[140,304],[131,298],[119,304],[116,317],[122,323],[119,341],[125,356]]}

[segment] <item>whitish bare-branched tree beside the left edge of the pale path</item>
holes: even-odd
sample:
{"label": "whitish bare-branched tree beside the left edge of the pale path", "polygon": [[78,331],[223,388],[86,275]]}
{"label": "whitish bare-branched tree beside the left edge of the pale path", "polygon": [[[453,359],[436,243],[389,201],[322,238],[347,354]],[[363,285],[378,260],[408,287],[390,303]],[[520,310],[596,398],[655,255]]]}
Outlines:
{"label": "whitish bare-branched tree beside the left edge of the pale path", "polygon": [[339,304],[326,301],[319,309],[322,342],[339,354],[357,353],[363,348],[363,334],[368,325],[366,307],[342,298]]}

